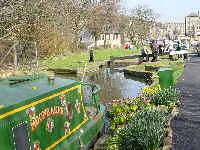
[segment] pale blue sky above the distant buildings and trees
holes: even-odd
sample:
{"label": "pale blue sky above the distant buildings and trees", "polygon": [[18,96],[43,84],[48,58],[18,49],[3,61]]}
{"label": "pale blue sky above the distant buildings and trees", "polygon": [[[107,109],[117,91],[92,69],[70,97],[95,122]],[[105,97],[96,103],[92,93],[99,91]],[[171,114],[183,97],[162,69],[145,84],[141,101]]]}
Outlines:
{"label": "pale blue sky above the distant buildings and trees", "polygon": [[182,22],[192,12],[200,11],[200,0],[122,0],[125,8],[145,5],[160,14],[161,22]]}

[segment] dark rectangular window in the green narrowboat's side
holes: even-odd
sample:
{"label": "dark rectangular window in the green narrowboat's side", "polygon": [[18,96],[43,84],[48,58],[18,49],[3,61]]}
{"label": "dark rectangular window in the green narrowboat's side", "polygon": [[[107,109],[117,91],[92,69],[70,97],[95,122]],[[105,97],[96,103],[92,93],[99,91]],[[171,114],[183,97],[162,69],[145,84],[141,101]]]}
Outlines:
{"label": "dark rectangular window in the green narrowboat's side", "polygon": [[30,150],[27,123],[13,128],[15,150]]}

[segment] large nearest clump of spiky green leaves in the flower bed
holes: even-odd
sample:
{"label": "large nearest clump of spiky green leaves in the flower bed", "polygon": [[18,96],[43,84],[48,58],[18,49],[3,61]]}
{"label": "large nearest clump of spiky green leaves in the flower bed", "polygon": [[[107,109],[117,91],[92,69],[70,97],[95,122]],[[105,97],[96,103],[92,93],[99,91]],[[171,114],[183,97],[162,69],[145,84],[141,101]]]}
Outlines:
{"label": "large nearest clump of spiky green leaves in the flower bed", "polygon": [[122,150],[155,150],[164,134],[165,113],[157,108],[138,111],[128,125],[119,131]]}

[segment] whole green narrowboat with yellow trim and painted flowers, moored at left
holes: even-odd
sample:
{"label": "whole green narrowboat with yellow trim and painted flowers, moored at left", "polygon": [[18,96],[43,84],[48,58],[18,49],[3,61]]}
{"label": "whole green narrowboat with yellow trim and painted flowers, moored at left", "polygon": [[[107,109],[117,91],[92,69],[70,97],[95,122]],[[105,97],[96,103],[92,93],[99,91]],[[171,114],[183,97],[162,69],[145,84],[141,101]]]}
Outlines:
{"label": "whole green narrowboat with yellow trim and painted flowers, moored at left", "polygon": [[[87,101],[83,88],[91,90]],[[0,149],[88,149],[104,126],[99,90],[45,75],[1,79]]]}

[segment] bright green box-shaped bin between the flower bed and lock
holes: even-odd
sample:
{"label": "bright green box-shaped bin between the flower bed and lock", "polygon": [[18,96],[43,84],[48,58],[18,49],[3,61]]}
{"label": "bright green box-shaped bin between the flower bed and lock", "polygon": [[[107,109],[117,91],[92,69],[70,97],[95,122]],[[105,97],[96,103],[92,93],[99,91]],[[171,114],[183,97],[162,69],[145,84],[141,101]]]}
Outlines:
{"label": "bright green box-shaped bin between the flower bed and lock", "polygon": [[174,86],[173,71],[171,68],[160,68],[158,70],[159,84],[161,88],[170,88]]}

